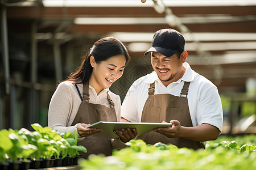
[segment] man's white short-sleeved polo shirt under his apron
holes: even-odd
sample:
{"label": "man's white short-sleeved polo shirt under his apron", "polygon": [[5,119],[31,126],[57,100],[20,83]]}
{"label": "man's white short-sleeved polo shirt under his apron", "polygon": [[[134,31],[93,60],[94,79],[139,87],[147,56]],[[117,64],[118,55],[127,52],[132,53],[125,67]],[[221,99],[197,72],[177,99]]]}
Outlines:
{"label": "man's white short-sleeved polo shirt under his apron", "polygon": [[136,80],[121,106],[121,117],[130,122],[141,122],[142,110],[148,97],[148,88],[155,82],[155,94],[180,96],[184,82],[191,82],[188,89],[188,106],[192,125],[210,124],[222,131],[223,112],[217,87],[204,76],[197,74],[187,62],[183,77],[167,87],[153,71]]}

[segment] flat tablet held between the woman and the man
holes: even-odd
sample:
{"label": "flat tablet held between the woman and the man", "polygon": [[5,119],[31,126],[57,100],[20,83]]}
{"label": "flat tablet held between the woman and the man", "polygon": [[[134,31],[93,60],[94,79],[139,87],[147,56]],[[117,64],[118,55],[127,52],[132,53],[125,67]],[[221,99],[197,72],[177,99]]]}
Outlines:
{"label": "flat tablet held between the woman and the man", "polygon": [[[92,134],[92,137],[102,137],[102,138],[119,138],[114,130],[121,131],[122,128],[135,128],[140,136],[147,133],[155,128],[167,128],[172,125],[171,123],[149,123],[149,122],[105,122],[100,121],[87,126],[86,128],[100,128],[103,130],[101,133]],[[121,131],[122,132],[122,131]]]}

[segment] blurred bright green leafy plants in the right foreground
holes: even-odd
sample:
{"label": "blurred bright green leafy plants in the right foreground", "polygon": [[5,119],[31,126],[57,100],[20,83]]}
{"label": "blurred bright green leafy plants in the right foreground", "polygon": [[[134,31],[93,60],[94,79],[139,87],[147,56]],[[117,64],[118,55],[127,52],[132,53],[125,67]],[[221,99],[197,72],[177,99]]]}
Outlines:
{"label": "blurred bright green leafy plants in the right foreground", "polygon": [[[254,135],[254,139],[255,139]],[[248,137],[245,137],[246,139]],[[242,139],[242,138],[240,138]],[[252,138],[251,138],[252,139]],[[253,141],[253,140],[251,140]],[[156,143],[146,145],[141,140],[131,140],[129,147],[115,150],[112,156],[90,155],[81,160],[82,169],[256,169],[256,148],[246,141],[212,141],[205,150],[177,148]],[[239,145],[243,143],[242,145]],[[246,143],[246,144],[245,144]]]}

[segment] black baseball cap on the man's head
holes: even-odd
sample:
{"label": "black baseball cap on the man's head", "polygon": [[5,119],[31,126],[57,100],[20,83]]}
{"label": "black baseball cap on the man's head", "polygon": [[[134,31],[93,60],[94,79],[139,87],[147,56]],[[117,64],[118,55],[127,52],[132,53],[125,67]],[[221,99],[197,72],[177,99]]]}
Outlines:
{"label": "black baseball cap on the man's head", "polygon": [[160,29],[156,31],[151,43],[151,48],[147,50],[144,55],[148,52],[158,52],[166,57],[171,57],[177,51],[183,52],[185,46],[185,39],[180,32],[175,29]]}

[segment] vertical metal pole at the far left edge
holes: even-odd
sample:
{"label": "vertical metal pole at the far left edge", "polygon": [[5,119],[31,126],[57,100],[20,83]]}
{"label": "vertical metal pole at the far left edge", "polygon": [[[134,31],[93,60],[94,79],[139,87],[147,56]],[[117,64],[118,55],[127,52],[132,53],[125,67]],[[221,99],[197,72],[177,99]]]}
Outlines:
{"label": "vertical metal pole at the far left edge", "polygon": [[5,74],[5,93],[10,94],[10,65],[9,65],[9,49],[8,49],[8,33],[7,33],[7,19],[6,7],[1,6],[1,41],[2,41],[2,56],[3,67]]}

